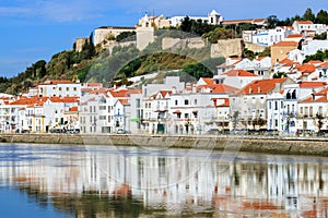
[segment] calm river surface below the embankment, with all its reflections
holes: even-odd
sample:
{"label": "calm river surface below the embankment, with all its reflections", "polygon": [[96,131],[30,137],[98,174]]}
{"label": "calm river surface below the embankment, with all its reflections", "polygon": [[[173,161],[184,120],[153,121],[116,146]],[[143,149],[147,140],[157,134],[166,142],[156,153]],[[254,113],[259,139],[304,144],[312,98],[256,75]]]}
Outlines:
{"label": "calm river surface below the embankment, with all its reflections", "polygon": [[1,217],[327,217],[327,160],[0,144]]}

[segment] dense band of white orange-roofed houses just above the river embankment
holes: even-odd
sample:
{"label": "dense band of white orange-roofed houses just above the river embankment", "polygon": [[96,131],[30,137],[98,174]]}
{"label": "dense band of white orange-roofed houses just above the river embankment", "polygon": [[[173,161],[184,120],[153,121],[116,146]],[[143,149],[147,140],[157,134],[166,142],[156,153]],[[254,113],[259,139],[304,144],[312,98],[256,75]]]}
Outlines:
{"label": "dense band of white orange-roofed houses just above the river embankment", "polygon": [[105,88],[99,83],[47,81],[20,96],[0,98],[1,132],[188,134],[220,130],[328,130],[328,61],[283,59],[270,77],[269,57],[227,58],[212,78]]}

